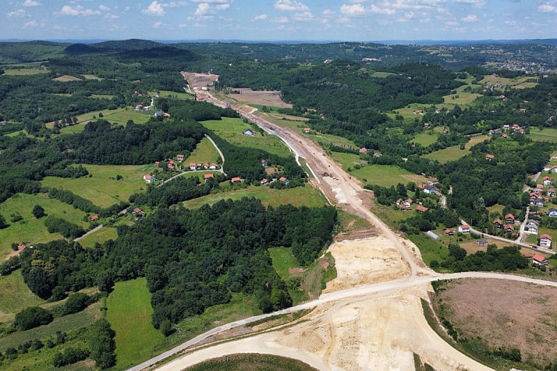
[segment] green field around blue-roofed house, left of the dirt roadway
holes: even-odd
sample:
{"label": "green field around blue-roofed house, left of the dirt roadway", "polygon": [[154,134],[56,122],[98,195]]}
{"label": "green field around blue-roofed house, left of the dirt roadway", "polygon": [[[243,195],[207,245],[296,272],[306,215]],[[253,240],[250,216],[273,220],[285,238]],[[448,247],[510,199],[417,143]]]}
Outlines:
{"label": "green field around blue-roofed house, left of the dirt roadway", "polygon": [[225,141],[234,145],[248,148],[263,148],[274,155],[290,156],[290,150],[277,136],[261,134],[260,132],[256,132],[255,136],[244,134],[246,129],[253,130],[253,127],[244,123],[241,118],[223,117],[222,120],[207,120],[203,121],[202,124]]}

